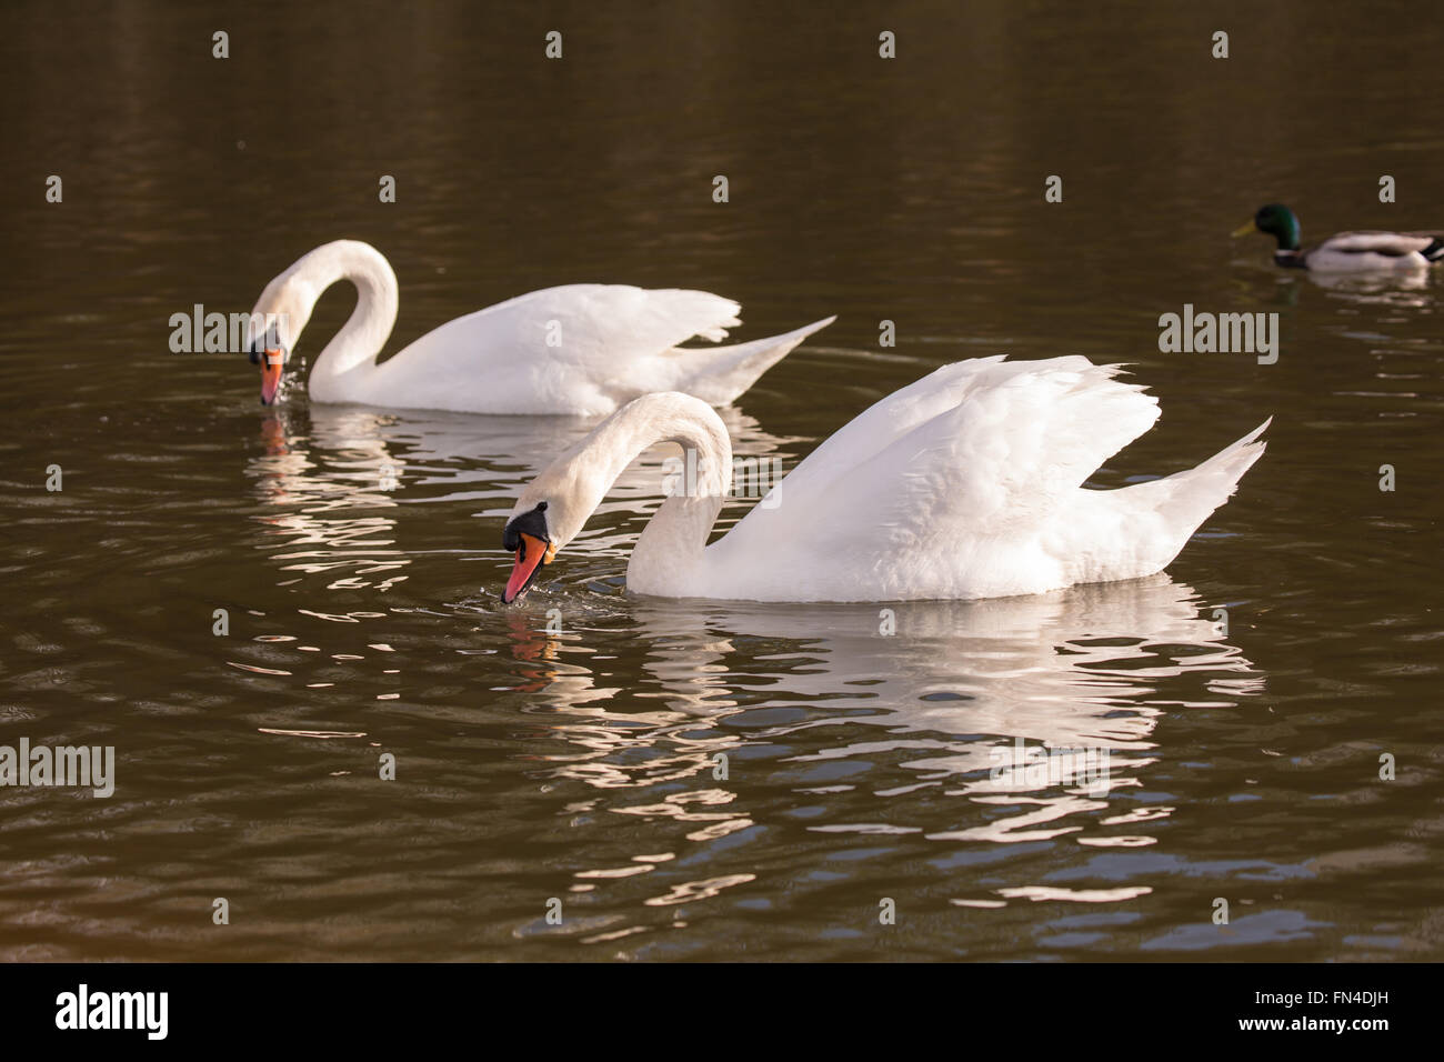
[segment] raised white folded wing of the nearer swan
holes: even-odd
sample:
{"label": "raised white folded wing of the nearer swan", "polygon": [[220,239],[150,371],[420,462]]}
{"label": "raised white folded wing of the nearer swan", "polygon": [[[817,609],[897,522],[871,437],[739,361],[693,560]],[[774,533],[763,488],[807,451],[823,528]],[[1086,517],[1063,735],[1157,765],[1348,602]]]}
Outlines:
{"label": "raised white folded wing of the nearer swan", "polygon": [[[1028,553],[1050,517],[1158,419],[1118,371],[1083,357],[947,366],[800,464],[710,548],[716,571],[742,597],[765,597],[777,575],[800,600],[1031,592]],[[983,582],[1014,571],[1017,588]]]}

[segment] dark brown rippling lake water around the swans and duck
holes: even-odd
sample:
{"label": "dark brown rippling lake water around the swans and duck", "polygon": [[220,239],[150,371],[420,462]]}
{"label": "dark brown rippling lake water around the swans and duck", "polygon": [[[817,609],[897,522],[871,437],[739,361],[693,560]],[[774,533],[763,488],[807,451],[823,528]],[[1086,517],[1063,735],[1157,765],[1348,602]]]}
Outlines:
{"label": "dark brown rippling lake water around the swans and duck", "polygon": [[[0,955],[1444,955],[1441,279],[1321,286],[1227,238],[1269,199],[1305,238],[1444,227],[1435,6],[3,19],[0,744],[114,746],[117,783],[0,789]],[[503,608],[503,514],[585,423],[266,410],[244,357],[168,350],[344,236],[400,277],[388,350],[579,280],[729,295],[741,340],[838,314],[726,412],[787,467],[992,353],[1135,364],[1164,418],[1099,485],[1276,419],[1142,582],[901,605],[891,637],[632,598],[658,451]],[[1184,303],[1276,312],[1278,363],[1161,354]],[[1109,785],[995,777],[1019,747],[1105,750]]]}

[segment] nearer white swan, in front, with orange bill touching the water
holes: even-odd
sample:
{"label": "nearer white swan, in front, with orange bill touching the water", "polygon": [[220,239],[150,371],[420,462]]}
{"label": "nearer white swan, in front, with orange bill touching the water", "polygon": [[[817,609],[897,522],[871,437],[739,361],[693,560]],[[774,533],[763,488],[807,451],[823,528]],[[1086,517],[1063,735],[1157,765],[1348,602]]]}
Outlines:
{"label": "nearer white swan, in front, with orange bill touching the water", "polygon": [[523,594],[647,446],[697,451],[627,565],[628,590],[755,601],[1038,594],[1161,571],[1264,452],[1259,428],[1197,468],[1119,490],[1083,481],[1158,419],[1158,400],[1084,357],[976,358],[878,402],[823,442],[732,530],[708,533],[731,485],[716,413],[647,394],[521,493],[503,533]]}

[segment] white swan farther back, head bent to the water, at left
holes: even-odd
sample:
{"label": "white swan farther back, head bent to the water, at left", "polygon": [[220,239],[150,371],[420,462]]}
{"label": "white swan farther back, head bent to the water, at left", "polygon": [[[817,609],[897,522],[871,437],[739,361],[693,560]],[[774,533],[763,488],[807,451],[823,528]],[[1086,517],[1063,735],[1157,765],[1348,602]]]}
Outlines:
{"label": "white swan farther back, head bent to the water, at left", "polygon": [[708,292],[567,285],[459,316],[377,364],[396,324],[396,273],[370,244],[336,240],[266,285],[251,312],[247,348],[261,366],[263,403],[276,400],[310,311],[338,280],[355,285],[357,308],[310,370],[316,402],[591,416],[676,390],[725,406],[835,319],[735,347],[677,350],[693,337],[722,340],[741,324],[741,308]]}

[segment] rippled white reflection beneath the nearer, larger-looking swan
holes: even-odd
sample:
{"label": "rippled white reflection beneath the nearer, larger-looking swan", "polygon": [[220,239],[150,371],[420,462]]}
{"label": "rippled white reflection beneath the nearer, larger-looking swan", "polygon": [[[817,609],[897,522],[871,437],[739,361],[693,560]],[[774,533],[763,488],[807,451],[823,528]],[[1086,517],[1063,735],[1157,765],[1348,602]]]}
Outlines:
{"label": "rippled white reflection beneath the nearer, larger-looking swan", "polygon": [[[537,662],[542,607],[556,616],[576,605],[539,597],[514,643],[518,660]],[[536,696],[526,711],[546,714],[567,746],[546,757],[550,776],[667,789],[664,800],[614,799],[608,809],[712,818],[722,832],[764,816],[728,806],[744,757],[770,761],[794,795],[835,795],[835,813],[810,826],[819,831],[1151,844],[1141,831],[1171,809],[1128,790],[1147,785],[1160,720],[1262,691],[1222,614],[1167,575],[887,608],[650,598],[628,608],[647,646],[637,679],[593,679],[601,663],[569,652],[585,633],[550,636],[549,662],[526,670]],[[699,787],[679,790],[689,779]],[[914,796],[923,790],[963,802],[952,825]],[[897,800],[915,802],[915,821]]]}

